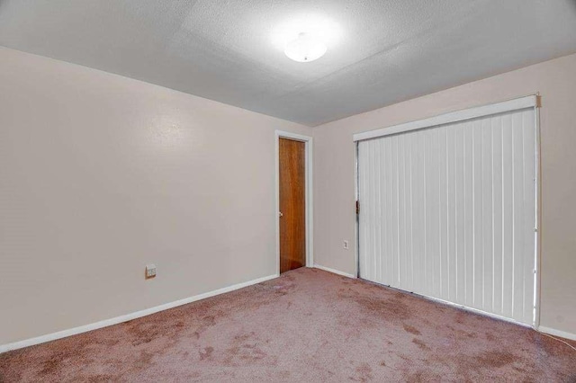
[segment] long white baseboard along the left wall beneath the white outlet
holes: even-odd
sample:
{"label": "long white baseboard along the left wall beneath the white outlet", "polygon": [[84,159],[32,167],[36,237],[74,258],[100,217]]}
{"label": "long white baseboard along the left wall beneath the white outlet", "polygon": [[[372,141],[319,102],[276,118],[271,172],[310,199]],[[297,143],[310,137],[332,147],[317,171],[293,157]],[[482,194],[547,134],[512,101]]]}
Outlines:
{"label": "long white baseboard along the left wall beneath the white outlet", "polygon": [[182,305],[185,305],[187,303],[192,303],[192,302],[195,302],[196,300],[201,300],[204,298],[210,298],[210,297],[213,297],[215,295],[220,295],[220,294],[223,294],[225,292],[233,291],[235,289],[242,289],[242,288],[245,288],[247,286],[255,285],[255,284],[263,282],[263,281],[273,280],[275,278],[278,278],[278,276],[279,276],[278,274],[268,275],[267,277],[258,278],[257,280],[238,283],[238,284],[235,284],[235,285],[232,285],[229,287],[225,287],[222,289],[215,289],[213,291],[205,292],[203,294],[195,295],[193,297],[175,300],[174,302],[166,303],[164,305],[160,305],[157,307],[150,307],[150,308],[147,308],[145,310],[136,311],[134,313],[126,314],[123,316],[116,316],[116,317],[113,317],[110,319],[104,319],[103,321],[96,322],[96,323],[93,323],[90,325],[81,325],[78,327],[70,328],[68,330],[58,331],[58,333],[46,334],[46,335],[37,336],[35,338],[25,339],[25,340],[19,341],[19,342],[2,344],[2,345],[0,345],[0,353],[8,352],[11,350],[21,349],[23,347],[33,346],[34,344],[40,344],[40,343],[55,341],[55,340],[60,339],[60,338],[66,338],[67,336],[86,333],[88,331],[97,330],[99,328],[107,327],[109,325],[118,325],[119,323],[122,323],[122,322],[127,322],[129,320],[136,319],[136,318],[139,318],[141,316],[149,316],[150,314],[154,314],[154,313],[157,313],[159,311],[164,311],[164,310],[167,310],[169,308],[182,306]]}

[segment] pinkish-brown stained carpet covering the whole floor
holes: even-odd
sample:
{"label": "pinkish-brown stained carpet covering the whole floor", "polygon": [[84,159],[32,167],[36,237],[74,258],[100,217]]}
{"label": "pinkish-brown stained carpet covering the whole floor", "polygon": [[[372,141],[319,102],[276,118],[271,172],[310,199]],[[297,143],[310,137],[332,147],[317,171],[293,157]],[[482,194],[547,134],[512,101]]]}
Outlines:
{"label": "pinkish-brown stained carpet covering the whole floor", "polygon": [[0,355],[2,382],[576,381],[535,331],[317,269]]}

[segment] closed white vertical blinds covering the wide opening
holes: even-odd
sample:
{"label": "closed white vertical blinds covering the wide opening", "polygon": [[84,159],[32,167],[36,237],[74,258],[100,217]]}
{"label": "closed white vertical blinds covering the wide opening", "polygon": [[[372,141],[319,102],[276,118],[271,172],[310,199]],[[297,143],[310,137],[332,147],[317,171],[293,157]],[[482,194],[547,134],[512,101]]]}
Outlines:
{"label": "closed white vertical blinds covering the wide opening", "polygon": [[360,277],[533,325],[535,108],[358,142]]}

